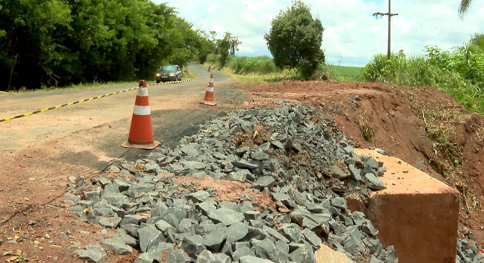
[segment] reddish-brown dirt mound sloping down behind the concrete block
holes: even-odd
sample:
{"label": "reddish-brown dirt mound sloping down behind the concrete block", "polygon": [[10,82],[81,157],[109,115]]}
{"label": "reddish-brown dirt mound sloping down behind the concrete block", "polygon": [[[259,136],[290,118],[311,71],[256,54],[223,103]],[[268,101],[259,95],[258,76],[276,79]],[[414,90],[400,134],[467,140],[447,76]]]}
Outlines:
{"label": "reddish-brown dirt mound sloping down behind the concrete block", "polygon": [[484,244],[484,116],[433,88],[284,81],[239,87],[245,107],[274,101],[319,105],[354,146],[376,146],[461,193],[460,225]]}

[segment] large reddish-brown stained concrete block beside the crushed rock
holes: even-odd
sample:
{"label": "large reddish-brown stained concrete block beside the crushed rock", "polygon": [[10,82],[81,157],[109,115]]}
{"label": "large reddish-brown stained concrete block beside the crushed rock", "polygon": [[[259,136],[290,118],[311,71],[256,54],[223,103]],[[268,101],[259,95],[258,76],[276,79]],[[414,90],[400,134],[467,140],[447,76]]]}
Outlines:
{"label": "large reddish-brown stained concrete block beside the crushed rock", "polygon": [[[372,192],[366,215],[400,263],[454,263],[459,222],[459,192],[399,158],[375,150],[355,153],[383,161],[379,179],[387,188]],[[405,172],[404,172],[405,171]]]}

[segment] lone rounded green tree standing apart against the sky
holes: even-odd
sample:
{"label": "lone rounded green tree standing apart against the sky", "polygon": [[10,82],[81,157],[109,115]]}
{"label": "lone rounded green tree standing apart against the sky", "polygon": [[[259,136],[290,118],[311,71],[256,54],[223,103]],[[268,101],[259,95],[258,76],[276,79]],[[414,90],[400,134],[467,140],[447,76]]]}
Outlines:
{"label": "lone rounded green tree standing apart against the sky", "polygon": [[321,50],[324,27],[313,19],[309,6],[294,0],[291,7],[281,10],[272,20],[271,30],[264,35],[267,46],[280,68],[298,68],[308,79],[325,60]]}

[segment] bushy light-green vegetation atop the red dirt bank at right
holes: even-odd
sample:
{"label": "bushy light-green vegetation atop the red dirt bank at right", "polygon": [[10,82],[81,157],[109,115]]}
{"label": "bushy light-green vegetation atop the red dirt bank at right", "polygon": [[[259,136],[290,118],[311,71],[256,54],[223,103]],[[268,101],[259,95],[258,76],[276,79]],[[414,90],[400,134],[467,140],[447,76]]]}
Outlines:
{"label": "bushy light-green vegetation atop the red dirt bank at right", "polygon": [[475,34],[462,46],[444,51],[425,47],[421,56],[393,53],[375,55],[363,68],[364,81],[435,87],[451,95],[466,109],[484,114],[484,35]]}

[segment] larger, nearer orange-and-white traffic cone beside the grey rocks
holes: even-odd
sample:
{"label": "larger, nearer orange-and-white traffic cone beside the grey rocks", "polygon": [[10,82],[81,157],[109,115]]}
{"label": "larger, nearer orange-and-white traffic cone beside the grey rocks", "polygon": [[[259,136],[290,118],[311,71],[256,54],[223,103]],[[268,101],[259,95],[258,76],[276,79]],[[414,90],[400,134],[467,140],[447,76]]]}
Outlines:
{"label": "larger, nearer orange-and-white traffic cone beside the grey rocks", "polygon": [[129,128],[128,140],[121,144],[124,148],[152,150],[160,143],[153,138],[150,101],[146,80],[140,80],[138,95],[134,103],[133,118]]}

